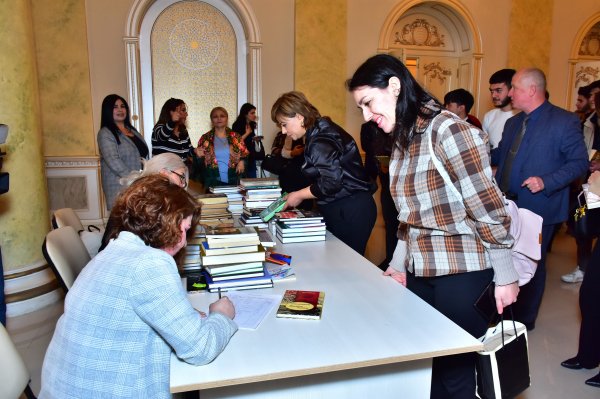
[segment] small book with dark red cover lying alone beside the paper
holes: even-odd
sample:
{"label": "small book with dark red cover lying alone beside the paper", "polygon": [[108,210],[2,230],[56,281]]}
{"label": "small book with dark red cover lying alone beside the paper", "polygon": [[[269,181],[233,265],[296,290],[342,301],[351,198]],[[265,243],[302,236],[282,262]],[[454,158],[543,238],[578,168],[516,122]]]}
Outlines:
{"label": "small book with dark red cover lying alone beside the paper", "polygon": [[277,317],[319,320],[323,313],[323,291],[286,290]]}

